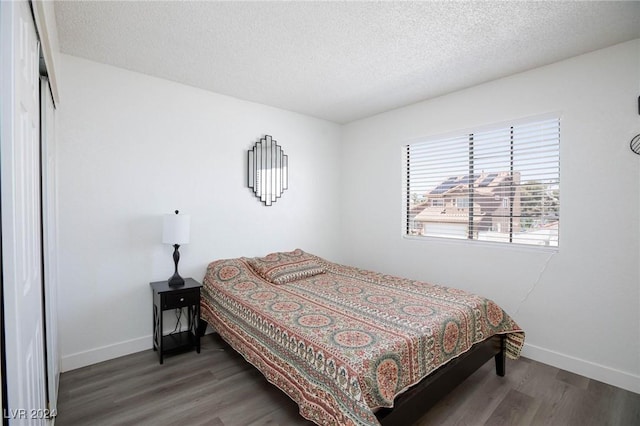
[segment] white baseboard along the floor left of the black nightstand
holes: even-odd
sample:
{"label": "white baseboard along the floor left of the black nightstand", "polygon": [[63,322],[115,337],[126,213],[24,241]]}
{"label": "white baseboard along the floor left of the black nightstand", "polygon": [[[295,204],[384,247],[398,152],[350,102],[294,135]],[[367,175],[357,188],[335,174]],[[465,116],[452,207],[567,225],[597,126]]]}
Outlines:
{"label": "white baseboard along the floor left of the black nightstand", "polygon": [[148,335],[113,345],[101,346],[88,351],[62,356],[60,357],[60,370],[64,373],[65,371],[75,370],[86,367],[87,365],[145,351],[151,349],[152,341],[151,335]]}

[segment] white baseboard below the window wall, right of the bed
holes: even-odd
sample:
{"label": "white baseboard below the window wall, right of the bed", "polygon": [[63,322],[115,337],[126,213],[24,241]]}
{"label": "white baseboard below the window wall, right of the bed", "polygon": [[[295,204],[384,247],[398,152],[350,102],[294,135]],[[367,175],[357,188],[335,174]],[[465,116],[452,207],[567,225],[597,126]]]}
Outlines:
{"label": "white baseboard below the window wall, right of the bed", "polygon": [[[640,394],[640,376],[525,343],[522,356]],[[509,374],[509,372],[507,372]]]}

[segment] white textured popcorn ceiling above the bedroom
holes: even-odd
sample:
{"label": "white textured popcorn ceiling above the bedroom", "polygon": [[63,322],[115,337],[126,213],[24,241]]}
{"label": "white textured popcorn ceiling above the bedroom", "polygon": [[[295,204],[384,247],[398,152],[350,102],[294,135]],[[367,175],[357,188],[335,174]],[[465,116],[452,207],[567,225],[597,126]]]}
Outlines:
{"label": "white textured popcorn ceiling above the bedroom", "polygon": [[640,37],[640,2],[56,1],[60,50],[346,123]]}

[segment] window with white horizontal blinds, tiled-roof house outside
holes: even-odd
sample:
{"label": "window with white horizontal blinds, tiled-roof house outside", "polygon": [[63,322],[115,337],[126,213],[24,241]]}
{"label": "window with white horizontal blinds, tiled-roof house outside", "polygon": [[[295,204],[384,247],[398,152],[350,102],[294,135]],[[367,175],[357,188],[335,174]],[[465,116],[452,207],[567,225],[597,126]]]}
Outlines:
{"label": "window with white horizontal blinds, tiled-roof house outside", "polygon": [[404,149],[406,235],[558,246],[558,118],[425,139]]}

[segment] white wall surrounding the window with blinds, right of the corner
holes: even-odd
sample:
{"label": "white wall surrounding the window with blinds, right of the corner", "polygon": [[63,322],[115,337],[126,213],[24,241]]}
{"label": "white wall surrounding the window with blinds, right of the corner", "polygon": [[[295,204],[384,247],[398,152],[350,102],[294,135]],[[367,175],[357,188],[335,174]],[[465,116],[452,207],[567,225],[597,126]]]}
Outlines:
{"label": "white wall surrounding the window with blinds, right of the corner", "polygon": [[[635,40],[346,125],[343,260],[491,297],[525,355],[640,392],[639,86]],[[402,237],[403,143],[556,111],[559,252]]]}

